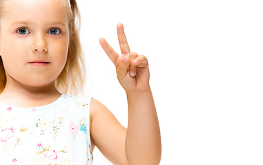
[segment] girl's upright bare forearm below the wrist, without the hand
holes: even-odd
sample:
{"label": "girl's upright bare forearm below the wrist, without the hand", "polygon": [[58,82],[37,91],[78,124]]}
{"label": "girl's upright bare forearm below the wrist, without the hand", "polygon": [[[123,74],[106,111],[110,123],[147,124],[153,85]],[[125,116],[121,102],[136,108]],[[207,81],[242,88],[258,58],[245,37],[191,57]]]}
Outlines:
{"label": "girl's upright bare forearm below the wrist, without the hand", "polygon": [[129,164],[159,164],[161,136],[150,89],[127,94],[126,155]]}

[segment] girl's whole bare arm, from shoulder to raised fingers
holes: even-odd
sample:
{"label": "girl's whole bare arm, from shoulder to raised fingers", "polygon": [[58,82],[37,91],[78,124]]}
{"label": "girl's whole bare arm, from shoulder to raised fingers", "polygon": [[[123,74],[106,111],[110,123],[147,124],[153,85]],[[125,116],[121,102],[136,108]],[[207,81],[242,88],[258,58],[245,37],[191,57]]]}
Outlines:
{"label": "girl's whole bare arm, from shoulder to raised fingers", "polygon": [[128,128],[121,126],[100,102],[94,101],[91,103],[91,140],[114,164],[159,164],[161,135],[149,85],[148,60],[146,56],[130,52],[122,23],[117,25],[117,33],[122,56],[103,38],[100,45],[114,63],[119,83],[126,91]]}

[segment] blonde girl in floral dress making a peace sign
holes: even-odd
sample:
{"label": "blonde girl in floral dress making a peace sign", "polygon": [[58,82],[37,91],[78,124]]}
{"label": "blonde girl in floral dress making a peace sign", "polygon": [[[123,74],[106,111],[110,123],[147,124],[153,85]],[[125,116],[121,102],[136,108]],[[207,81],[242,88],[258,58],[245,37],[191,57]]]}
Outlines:
{"label": "blonde girl in floral dress making a peace sign", "polygon": [[[93,162],[97,146],[113,164],[159,164],[161,137],[148,61],[100,45],[128,100],[128,129],[98,100],[76,98],[85,80],[76,0],[0,1],[1,164]],[[72,95],[71,95],[72,94]]]}

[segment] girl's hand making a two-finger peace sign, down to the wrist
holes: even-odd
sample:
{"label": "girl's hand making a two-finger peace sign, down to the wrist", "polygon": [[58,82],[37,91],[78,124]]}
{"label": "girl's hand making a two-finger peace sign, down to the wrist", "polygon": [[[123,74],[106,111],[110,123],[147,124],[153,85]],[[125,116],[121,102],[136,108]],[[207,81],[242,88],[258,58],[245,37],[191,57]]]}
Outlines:
{"label": "girl's hand making a two-finger peace sign, down to the wrist", "polygon": [[126,92],[149,89],[150,72],[146,56],[130,52],[122,23],[117,24],[117,36],[122,52],[121,56],[113,50],[111,45],[108,45],[104,38],[100,38],[100,45],[114,63],[119,83]]}

